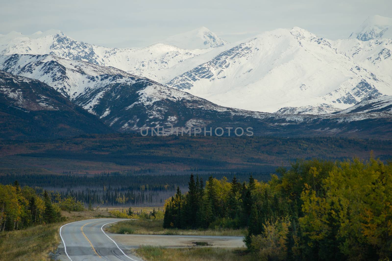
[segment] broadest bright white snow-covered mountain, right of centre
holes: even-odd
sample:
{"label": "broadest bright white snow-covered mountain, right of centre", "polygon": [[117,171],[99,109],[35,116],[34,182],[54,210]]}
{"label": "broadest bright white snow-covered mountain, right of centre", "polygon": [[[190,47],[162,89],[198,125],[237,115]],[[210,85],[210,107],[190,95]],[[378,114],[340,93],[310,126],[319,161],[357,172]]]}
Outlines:
{"label": "broadest bright white snow-covered mountain, right of centre", "polygon": [[392,87],[330,41],[304,29],[277,29],[222,52],[167,83],[217,104],[275,112],[327,104],[348,108]]}

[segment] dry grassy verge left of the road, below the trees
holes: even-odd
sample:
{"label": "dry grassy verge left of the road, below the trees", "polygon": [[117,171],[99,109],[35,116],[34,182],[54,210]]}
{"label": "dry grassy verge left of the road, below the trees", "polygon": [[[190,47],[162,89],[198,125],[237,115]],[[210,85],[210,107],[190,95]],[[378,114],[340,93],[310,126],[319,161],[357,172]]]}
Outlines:
{"label": "dry grassy verge left of the road, below the trees", "polygon": [[60,226],[89,218],[110,217],[107,212],[62,212],[66,221],[37,225],[23,230],[0,232],[0,259],[4,261],[47,261],[60,243]]}

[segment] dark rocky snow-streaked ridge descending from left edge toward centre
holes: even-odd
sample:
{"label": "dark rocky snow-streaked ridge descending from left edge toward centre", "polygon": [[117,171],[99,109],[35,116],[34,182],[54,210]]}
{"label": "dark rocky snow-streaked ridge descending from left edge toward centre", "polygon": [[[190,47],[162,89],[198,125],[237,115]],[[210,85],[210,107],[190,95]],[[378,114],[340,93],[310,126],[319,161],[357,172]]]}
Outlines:
{"label": "dark rocky snow-streaked ridge descending from left edge toward centre", "polygon": [[0,56],[0,70],[46,83],[122,132],[169,124],[205,126],[232,121],[232,113],[240,117],[260,114],[221,107],[113,67],[51,55]]}

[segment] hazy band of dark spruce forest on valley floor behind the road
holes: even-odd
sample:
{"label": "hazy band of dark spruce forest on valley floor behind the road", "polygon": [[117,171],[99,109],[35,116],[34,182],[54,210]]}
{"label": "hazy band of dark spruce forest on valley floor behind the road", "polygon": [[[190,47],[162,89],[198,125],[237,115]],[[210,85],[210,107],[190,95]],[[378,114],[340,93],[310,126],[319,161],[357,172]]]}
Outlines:
{"label": "hazy band of dark spruce forest on valley floor behind the road", "polygon": [[[267,181],[270,173],[252,173],[258,180]],[[247,180],[251,173],[202,173],[198,176],[207,180],[232,178]],[[61,199],[71,196],[85,206],[125,207],[125,206],[163,206],[164,200],[172,195],[176,187],[187,191],[188,175],[135,175],[130,173],[105,173],[100,175],[15,175],[0,176],[0,184],[13,184],[35,188],[36,193],[46,189],[52,200],[59,195]]]}

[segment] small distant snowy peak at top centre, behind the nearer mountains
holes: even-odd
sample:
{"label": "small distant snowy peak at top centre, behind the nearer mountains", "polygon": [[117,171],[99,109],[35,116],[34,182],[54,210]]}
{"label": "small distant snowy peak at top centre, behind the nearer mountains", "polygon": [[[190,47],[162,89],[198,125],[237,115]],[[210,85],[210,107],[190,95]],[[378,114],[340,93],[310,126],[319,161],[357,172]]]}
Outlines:
{"label": "small distant snowy peak at top centre, behind the nearer mountains", "polygon": [[228,44],[227,41],[223,40],[204,26],[189,32],[170,36],[161,42],[175,45],[182,49],[206,49]]}

